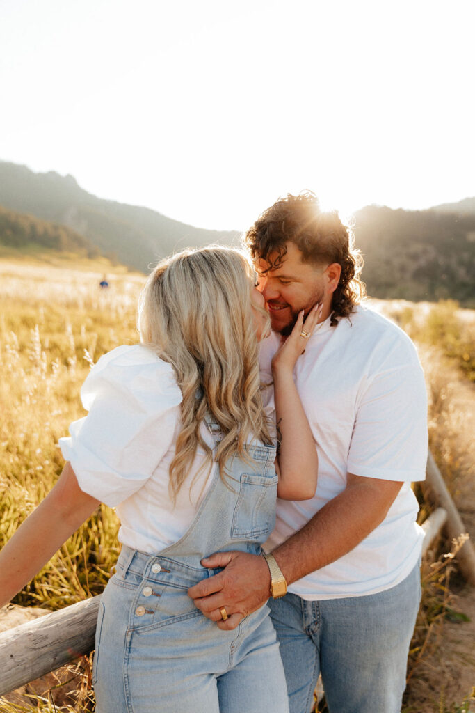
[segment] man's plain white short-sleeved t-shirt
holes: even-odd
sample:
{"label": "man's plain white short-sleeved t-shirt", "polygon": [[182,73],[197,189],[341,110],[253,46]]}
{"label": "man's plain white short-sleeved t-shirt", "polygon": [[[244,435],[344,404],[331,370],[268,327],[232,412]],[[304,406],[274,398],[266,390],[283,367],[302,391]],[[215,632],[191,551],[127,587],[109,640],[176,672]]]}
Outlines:
{"label": "man's plain white short-sleeved t-shirt", "polygon": [[[279,342],[272,334],[261,345],[264,382],[271,381]],[[414,568],[422,545],[410,483],[425,477],[427,397],[414,345],[385,317],[357,307],[336,327],[328,318],[315,329],[294,378],[318,450],[318,486],[308,501],[278,499],[276,528],[265,548],[273,550],[345,490],[347,473],[404,481],[385,520],[367,538],[288,589],[318,600],[391,588]],[[264,399],[273,405],[272,387]]]}

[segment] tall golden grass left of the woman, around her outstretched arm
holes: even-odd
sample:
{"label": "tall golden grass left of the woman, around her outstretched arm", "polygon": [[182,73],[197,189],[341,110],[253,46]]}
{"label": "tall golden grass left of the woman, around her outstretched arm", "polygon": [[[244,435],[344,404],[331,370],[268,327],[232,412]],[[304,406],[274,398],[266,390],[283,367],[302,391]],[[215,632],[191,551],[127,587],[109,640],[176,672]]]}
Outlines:
{"label": "tall golden grass left of the woman, around her outstretched arm", "polygon": [[[84,415],[79,390],[90,366],[137,342],[142,279],[28,267],[0,284],[0,546],[56,482],[58,438]],[[99,593],[117,557],[115,513],[101,506],[15,602],[56,609]]]}

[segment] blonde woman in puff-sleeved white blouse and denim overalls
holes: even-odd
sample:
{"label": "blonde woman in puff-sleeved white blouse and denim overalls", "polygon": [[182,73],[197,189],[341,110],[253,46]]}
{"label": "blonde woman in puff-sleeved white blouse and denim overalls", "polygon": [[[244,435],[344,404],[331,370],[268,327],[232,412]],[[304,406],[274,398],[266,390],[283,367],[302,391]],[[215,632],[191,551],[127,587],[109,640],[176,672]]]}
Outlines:
{"label": "blonde woman in puff-sleeved white blouse and denim overalls", "polygon": [[[141,344],[92,369],[81,391],[89,414],[61,439],[69,462],[0,553],[3,603],[100,501],[117,506],[122,550],[96,631],[98,713],[288,711],[267,607],[222,632],[187,595],[214,573],[204,555],[261,551],[276,491],[315,492],[315,444],[292,370],[317,310],[306,332],[300,315],[273,362],[283,412],[274,462],[257,359],[268,318],[251,277],[244,256],[223,247],[157,266],[140,299]],[[232,614],[226,602],[219,612]]]}

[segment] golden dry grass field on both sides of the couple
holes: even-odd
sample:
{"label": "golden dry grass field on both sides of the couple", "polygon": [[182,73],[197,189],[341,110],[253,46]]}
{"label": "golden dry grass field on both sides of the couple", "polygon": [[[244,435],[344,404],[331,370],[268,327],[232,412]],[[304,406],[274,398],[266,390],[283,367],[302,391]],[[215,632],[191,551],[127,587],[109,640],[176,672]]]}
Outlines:
{"label": "golden dry grass field on both sides of the couple", "polygon": [[[110,282],[105,290],[98,286],[103,272]],[[71,421],[84,415],[79,391],[91,364],[119,344],[137,342],[135,309],[144,280],[105,262],[33,263],[0,257],[0,547],[61,473],[58,438],[67,434]],[[422,351],[429,354],[428,367],[434,362],[430,350],[435,349],[437,359],[442,359],[438,363],[448,359],[461,379],[475,380],[475,312],[459,310],[453,302],[376,306],[421,342]],[[451,477],[460,463],[458,446],[447,446],[437,435],[441,424],[451,428],[448,404],[434,396],[440,369],[437,374],[427,369],[432,448],[437,458],[445,459],[445,472]],[[425,518],[428,506],[422,493],[418,496],[421,518]],[[115,513],[101,506],[14,602],[54,610],[100,593],[118,555],[117,530]],[[429,568],[424,576],[425,601],[412,645],[412,667],[424,655],[429,630],[442,621],[450,599],[447,560],[441,560],[438,569]],[[88,706],[78,703],[62,710],[89,710]],[[32,713],[55,707],[46,699],[26,707],[0,699],[0,710]]]}

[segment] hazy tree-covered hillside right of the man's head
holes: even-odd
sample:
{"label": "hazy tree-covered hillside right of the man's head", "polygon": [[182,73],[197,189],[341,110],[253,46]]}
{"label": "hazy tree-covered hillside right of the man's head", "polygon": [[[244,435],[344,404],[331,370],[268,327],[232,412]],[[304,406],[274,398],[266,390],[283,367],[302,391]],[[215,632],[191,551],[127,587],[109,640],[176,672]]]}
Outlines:
{"label": "hazy tree-covered hillside right of the man's head", "polygon": [[372,297],[475,306],[475,214],[373,205],[355,213],[354,232]]}

